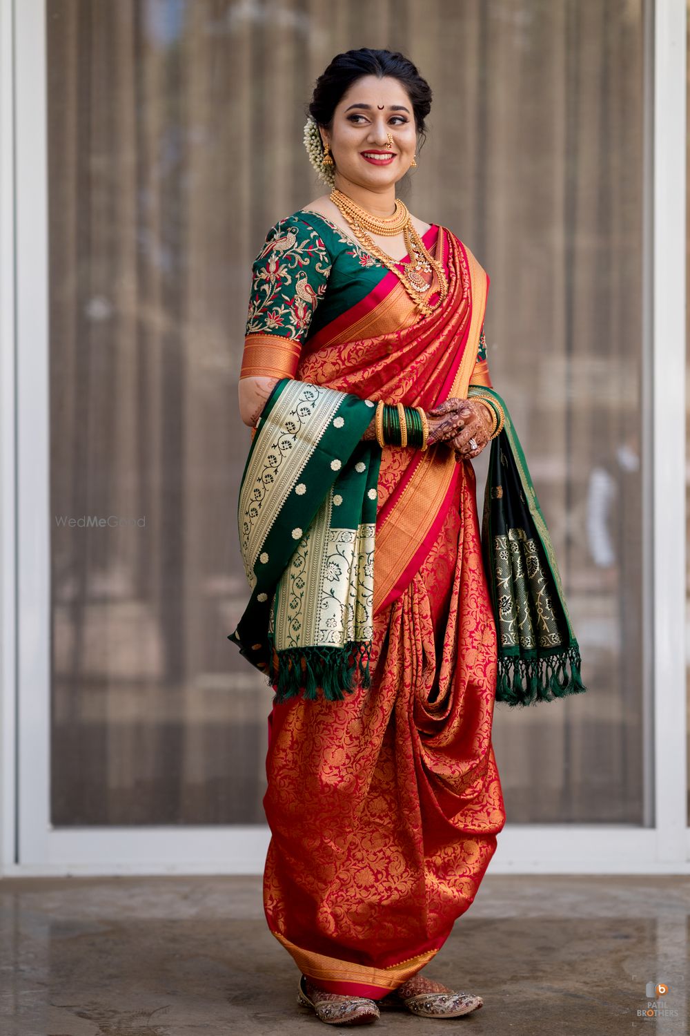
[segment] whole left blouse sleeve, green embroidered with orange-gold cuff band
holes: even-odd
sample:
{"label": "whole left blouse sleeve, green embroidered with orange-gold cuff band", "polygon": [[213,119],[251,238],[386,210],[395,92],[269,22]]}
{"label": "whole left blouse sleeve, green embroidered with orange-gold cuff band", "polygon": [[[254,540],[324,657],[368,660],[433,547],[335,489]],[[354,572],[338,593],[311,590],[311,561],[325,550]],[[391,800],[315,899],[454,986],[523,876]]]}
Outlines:
{"label": "whole left blouse sleeve, green embroidered with orange-gold cuff band", "polygon": [[308,223],[293,214],[271,227],[251,267],[241,378],[295,376],[330,271],[328,250]]}

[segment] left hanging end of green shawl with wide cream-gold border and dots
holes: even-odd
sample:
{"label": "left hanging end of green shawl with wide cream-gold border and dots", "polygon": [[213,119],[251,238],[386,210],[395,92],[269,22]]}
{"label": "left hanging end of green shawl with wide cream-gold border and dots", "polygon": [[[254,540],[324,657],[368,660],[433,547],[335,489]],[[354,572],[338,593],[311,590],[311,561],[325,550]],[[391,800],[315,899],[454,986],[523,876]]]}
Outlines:
{"label": "left hanging end of green shawl with wide cream-gold border and dots", "polygon": [[381,448],[362,441],[374,404],[281,378],[242,476],[238,525],[251,598],[228,639],[276,701],[370,686]]}

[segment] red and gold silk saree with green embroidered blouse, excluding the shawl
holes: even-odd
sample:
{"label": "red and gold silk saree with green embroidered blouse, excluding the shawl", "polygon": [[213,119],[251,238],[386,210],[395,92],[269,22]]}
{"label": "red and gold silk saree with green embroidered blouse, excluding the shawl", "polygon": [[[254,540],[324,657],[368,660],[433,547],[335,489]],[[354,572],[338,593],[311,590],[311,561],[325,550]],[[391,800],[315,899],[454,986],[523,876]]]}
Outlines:
{"label": "red and gold silk saree with green embroidered blouse, excluding the shawl", "polygon": [[[426,410],[490,384],[488,276],[446,228],[424,239],[449,292],[420,318],[395,275],[324,217],[279,221],[254,262],[242,376]],[[307,977],[379,999],[438,953],[505,824],[475,474],[443,443],[381,451],[372,620],[369,687],[273,706],[264,905]]]}

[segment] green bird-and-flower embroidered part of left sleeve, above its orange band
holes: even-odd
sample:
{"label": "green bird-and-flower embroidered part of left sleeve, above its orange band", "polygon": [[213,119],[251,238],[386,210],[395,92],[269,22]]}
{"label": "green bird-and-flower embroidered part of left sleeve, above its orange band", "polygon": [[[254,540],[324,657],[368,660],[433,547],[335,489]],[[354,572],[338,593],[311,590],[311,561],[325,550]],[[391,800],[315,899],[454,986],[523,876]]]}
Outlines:
{"label": "green bird-and-flower embroidered part of left sleeve, above its orange band", "polygon": [[252,265],[245,335],[301,341],[326,293],[331,258],[317,231],[296,215],[278,220]]}

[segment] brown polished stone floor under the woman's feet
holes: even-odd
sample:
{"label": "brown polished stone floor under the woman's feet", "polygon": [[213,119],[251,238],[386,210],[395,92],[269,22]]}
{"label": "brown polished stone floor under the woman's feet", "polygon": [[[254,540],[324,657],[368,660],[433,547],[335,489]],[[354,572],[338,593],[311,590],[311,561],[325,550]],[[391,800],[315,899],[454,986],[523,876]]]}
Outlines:
{"label": "brown polished stone floor under the woman's feet", "polygon": [[[487,874],[426,974],[484,1007],[387,1012],[362,1032],[686,1036],[687,877]],[[0,882],[2,1036],[293,1036],[298,972],[269,934],[258,877]],[[647,982],[666,1014],[641,1016]],[[330,1031],[346,1030],[334,1027]]]}

